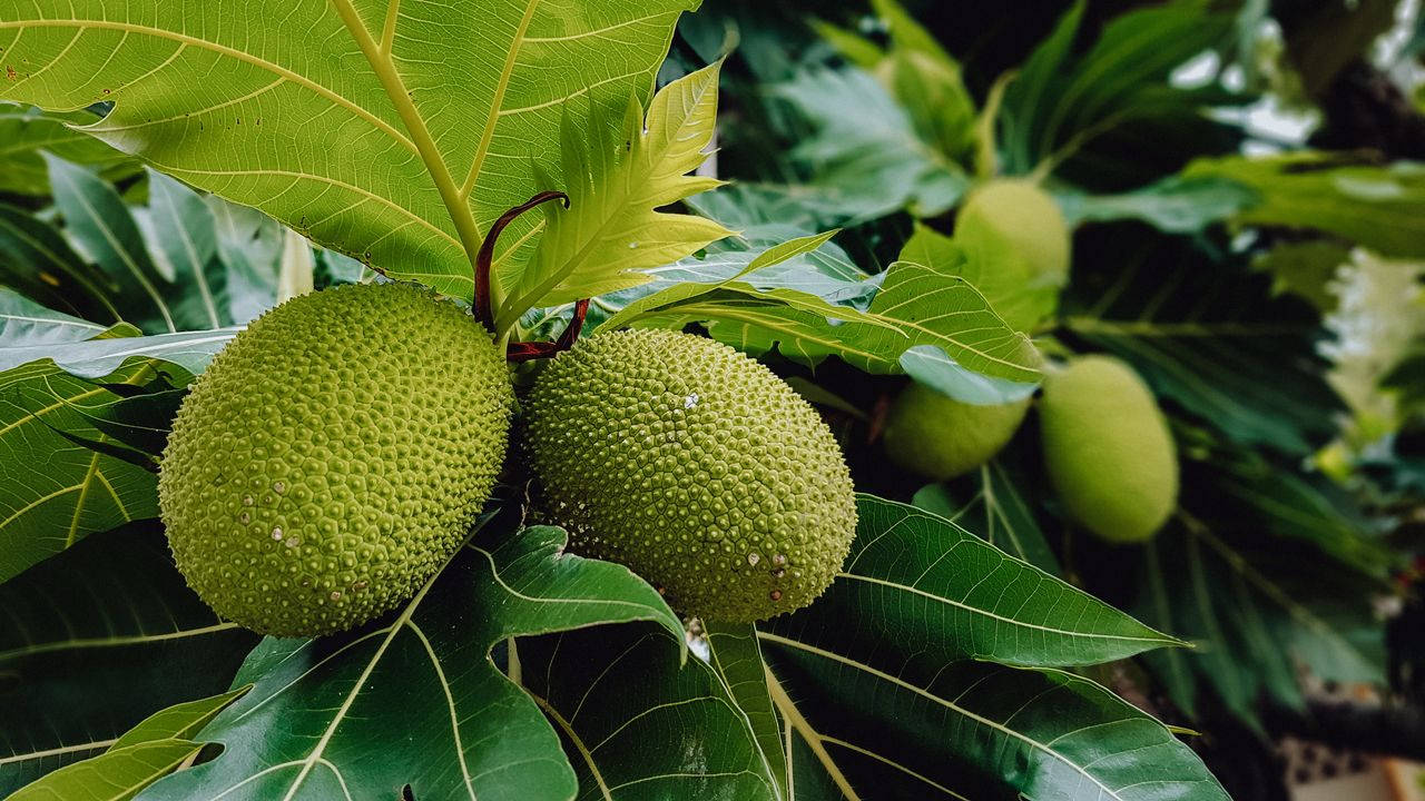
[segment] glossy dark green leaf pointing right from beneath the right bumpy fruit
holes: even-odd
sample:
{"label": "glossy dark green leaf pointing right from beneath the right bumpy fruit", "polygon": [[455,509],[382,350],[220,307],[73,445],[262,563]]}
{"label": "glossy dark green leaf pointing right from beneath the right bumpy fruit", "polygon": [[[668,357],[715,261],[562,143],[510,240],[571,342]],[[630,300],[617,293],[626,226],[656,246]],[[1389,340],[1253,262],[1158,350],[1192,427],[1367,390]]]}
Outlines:
{"label": "glossy dark green leaf pointing right from beneath the right bumpy fruit", "polygon": [[845,646],[856,654],[1020,666],[1097,664],[1181,644],[943,517],[866,495],[856,510],[851,556],[826,594],[762,631],[841,627],[859,634]]}

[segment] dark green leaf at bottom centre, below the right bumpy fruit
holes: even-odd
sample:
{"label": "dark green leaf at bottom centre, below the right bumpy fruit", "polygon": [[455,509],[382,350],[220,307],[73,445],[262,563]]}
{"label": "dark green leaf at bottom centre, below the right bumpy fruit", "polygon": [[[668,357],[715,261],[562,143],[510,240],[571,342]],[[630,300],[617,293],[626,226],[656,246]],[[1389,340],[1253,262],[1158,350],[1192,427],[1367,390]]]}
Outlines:
{"label": "dark green leaf at bottom centre, below the right bumpy fruit", "polygon": [[526,690],[564,741],[579,798],[781,798],[730,688],[701,660],[680,667],[680,646],[653,626],[519,641]]}

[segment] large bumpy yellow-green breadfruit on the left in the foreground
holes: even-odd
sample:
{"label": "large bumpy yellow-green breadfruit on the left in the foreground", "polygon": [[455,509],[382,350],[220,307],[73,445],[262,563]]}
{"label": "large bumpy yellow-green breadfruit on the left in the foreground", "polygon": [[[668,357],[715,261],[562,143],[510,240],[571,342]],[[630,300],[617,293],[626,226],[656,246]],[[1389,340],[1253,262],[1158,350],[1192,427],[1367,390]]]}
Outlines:
{"label": "large bumpy yellow-green breadfruit on the left in the foreground", "polygon": [[426,291],[279,305],[178,410],[158,476],[178,569],[218,614],[279,637],[398,606],[489,499],[513,399],[489,334]]}

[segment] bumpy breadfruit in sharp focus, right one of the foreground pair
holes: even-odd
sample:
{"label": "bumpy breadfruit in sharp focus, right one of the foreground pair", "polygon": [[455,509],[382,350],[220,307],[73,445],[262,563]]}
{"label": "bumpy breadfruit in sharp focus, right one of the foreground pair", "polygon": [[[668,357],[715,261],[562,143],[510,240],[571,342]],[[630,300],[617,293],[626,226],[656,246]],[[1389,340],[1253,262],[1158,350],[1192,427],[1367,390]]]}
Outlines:
{"label": "bumpy breadfruit in sharp focus, right one of the foreground pair", "polygon": [[856,505],[831,429],[764,365],[671,331],[600,334],[527,403],[550,516],[687,614],[747,623],[809,604]]}

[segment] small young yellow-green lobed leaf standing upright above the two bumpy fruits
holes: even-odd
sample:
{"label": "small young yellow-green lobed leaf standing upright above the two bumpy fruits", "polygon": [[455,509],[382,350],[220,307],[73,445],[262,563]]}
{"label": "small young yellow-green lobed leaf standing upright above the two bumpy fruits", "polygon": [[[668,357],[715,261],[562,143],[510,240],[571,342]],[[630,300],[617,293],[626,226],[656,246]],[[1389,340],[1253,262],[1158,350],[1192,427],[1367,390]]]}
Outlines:
{"label": "small young yellow-green lobed leaf standing upright above the two bumpy fruits", "polygon": [[[529,267],[512,281],[496,328],[527,309],[551,306],[647,282],[643,272],[731,234],[717,222],[656,211],[718,185],[687,175],[707,158],[717,120],[721,63],[673,81],[644,120],[631,98],[617,124],[593,117],[593,137],[563,124],[564,188],[570,208],[547,204],[546,229]],[[577,178],[576,178],[577,177]]]}

